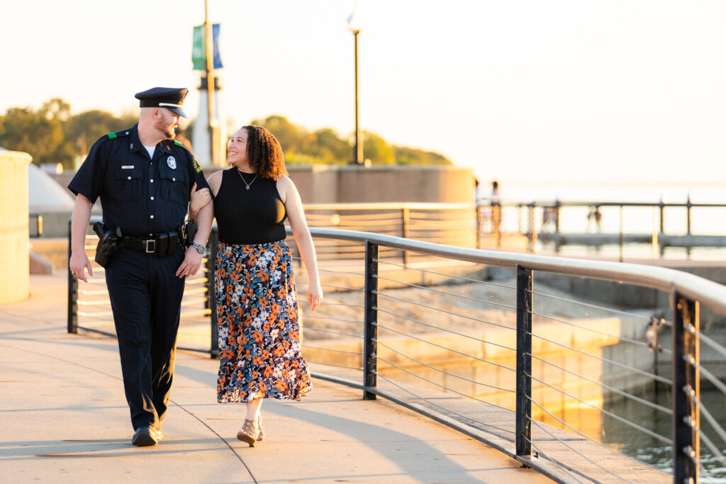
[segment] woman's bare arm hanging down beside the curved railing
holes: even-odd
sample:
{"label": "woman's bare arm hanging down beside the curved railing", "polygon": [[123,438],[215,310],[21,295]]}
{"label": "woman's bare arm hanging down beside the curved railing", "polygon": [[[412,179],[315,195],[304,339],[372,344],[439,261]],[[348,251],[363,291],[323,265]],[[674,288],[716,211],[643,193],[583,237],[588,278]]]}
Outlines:
{"label": "woman's bare arm hanging down beside the curved railing", "polygon": [[290,221],[293,237],[295,237],[295,242],[298,244],[300,255],[303,258],[303,265],[308,273],[308,303],[315,310],[322,303],[322,287],[320,286],[320,276],[317,270],[315,246],[310,236],[308,223],[305,220],[303,202],[300,200],[298,189],[288,176],[281,175],[277,179],[277,191],[285,204],[287,220]]}

